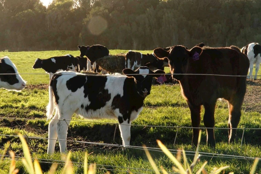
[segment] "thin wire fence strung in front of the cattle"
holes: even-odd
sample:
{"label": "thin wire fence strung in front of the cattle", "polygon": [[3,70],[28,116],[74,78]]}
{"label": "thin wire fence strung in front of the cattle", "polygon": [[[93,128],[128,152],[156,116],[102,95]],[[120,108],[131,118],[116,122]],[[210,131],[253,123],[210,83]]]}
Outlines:
{"label": "thin wire fence strung in front of the cattle", "polygon": [[[44,74],[44,73],[19,73],[19,74]],[[0,74],[0,75],[4,75],[4,74]],[[45,74],[46,75],[46,74]],[[72,74],[68,74],[68,75],[72,75]],[[82,74],[82,75],[86,75],[86,76],[95,76],[93,74]],[[119,75],[119,74],[116,74]],[[124,75],[124,74],[122,74]],[[131,75],[131,74],[130,74]],[[135,74],[132,74],[135,75]],[[141,74],[141,75],[147,75],[147,74]],[[159,75],[164,75],[164,74],[159,74]],[[210,76],[227,76],[227,77],[250,77],[250,76],[237,76],[237,75],[221,75],[221,74],[182,74],[182,75],[210,75]],[[261,75],[258,75],[261,76]],[[37,137],[37,136],[28,136],[25,132],[25,130],[22,128],[22,125],[20,125],[17,120],[46,120],[48,121],[48,119],[29,119],[29,118],[10,118],[10,117],[0,117],[0,119],[6,119],[6,120],[12,120],[14,121],[17,126],[19,127],[19,129],[21,131],[23,131],[23,136],[25,137],[25,139],[30,142],[30,140],[44,140],[44,141],[48,141],[48,138],[46,137]],[[50,120],[63,120],[63,121],[76,121],[76,122],[89,122],[89,123],[98,123],[98,124],[113,124],[117,127],[118,123],[109,123],[109,122],[98,122],[98,121],[88,121],[88,120],[67,120],[67,119],[50,119]],[[69,126],[69,125],[68,125]],[[242,133],[242,137],[241,137],[241,144],[240,144],[240,149],[242,152],[242,146],[243,146],[243,140],[244,140],[244,136],[245,136],[245,131],[246,130],[261,130],[261,128],[251,128],[251,127],[244,127],[244,128],[220,128],[220,127],[215,127],[215,128],[206,128],[206,127],[186,127],[186,126],[157,126],[157,125],[131,125],[131,126],[141,126],[141,127],[160,127],[160,128],[169,128],[169,129],[176,129],[176,135],[174,138],[174,142],[173,142],[173,146],[175,146],[177,137],[178,137],[178,131],[180,129],[216,129],[216,130],[230,130],[230,129],[237,129],[237,130],[243,130]],[[97,145],[97,146],[111,146],[111,147],[119,147],[119,148],[124,148],[124,149],[134,149],[134,150],[144,150],[144,148],[142,146],[125,146],[123,147],[122,145],[116,143],[115,141],[115,134],[116,134],[116,127],[115,127],[115,132],[114,132],[114,143],[115,144],[109,144],[109,143],[97,143],[97,142],[86,142],[86,141],[79,141],[75,138],[73,138],[73,140],[64,140],[67,142],[72,142],[74,143],[74,145],[77,147],[76,143],[81,143],[81,144],[90,144],[90,145]],[[72,135],[70,126],[69,126],[69,132]],[[8,135],[8,134],[0,134],[0,136],[4,136],[4,137],[17,137],[18,135]],[[72,136],[73,137],[73,136]],[[55,139],[58,140],[58,139]],[[28,144],[28,147],[30,149],[30,144]],[[147,147],[147,149],[149,151],[155,151],[155,152],[160,152],[162,153],[162,150],[160,148],[155,148],[155,147]],[[168,149],[171,153],[173,154],[177,154],[178,152],[180,152],[180,150],[175,150],[175,149]],[[32,151],[32,149],[31,149]],[[187,156],[194,156],[196,152],[194,151],[188,151],[185,150],[185,153]],[[201,156],[204,157],[208,157],[208,158],[228,158],[228,159],[243,159],[243,160],[254,160],[256,159],[256,157],[253,156],[238,156],[238,155],[227,155],[227,154],[219,154],[219,153],[206,153],[206,152],[199,152]],[[4,155],[4,159],[5,160],[10,160],[11,156],[8,155]],[[17,161],[20,161],[22,158],[22,156],[15,156]],[[33,159],[37,159],[38,161],[40,161],[41,163],[57,163],[60,165],[64,165],[64,161],[63,160],[54,160],[54,159],[40,159],[40,158],[33,158]],[[261,159],[261,158],[257,158],[257,159]],[[137,174],[144,174],[144,172],[153,172],[153,170],[149,170],[149,169],[140,169],[140,168],[130,168],[130,167],[122,167],[122,166],[109,166],[109,165],[102,165],[102,164],[96,164],[97,165],[97,169],[101,169],[101,170],[108,170],[108,171],[115,171],[115,172],[127,172],[128,170],[131,170],[131,172],[133,173],[137,173]],[[78,167],[78,169],[80,167],[83,166],[83,163],[81,162],[75,162],[73,161],[73,166]],[[112,169],[113,168],[113,169]],[[136,172],[135,172],[136,171]],[[139,172],[137,172],[139,171]],[[77,173],[77,172],[76,172]],[[175,172],[169,172],[169,173],[175,173]]]}

